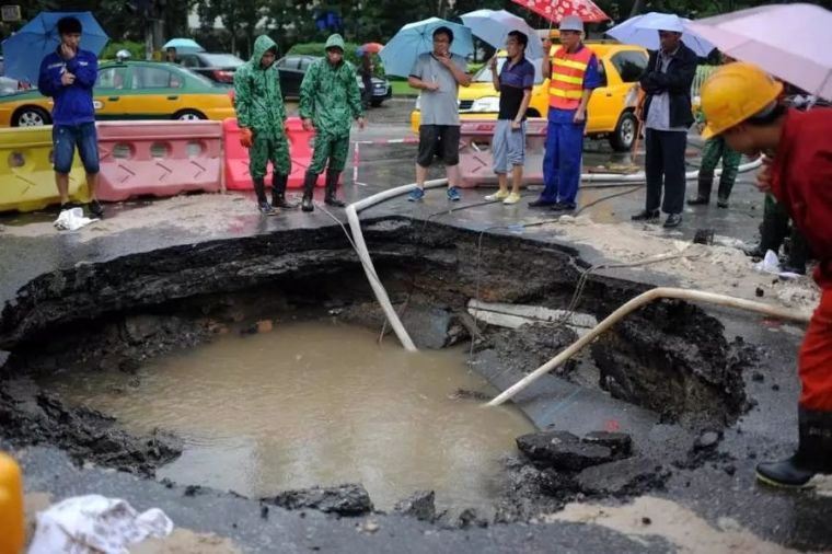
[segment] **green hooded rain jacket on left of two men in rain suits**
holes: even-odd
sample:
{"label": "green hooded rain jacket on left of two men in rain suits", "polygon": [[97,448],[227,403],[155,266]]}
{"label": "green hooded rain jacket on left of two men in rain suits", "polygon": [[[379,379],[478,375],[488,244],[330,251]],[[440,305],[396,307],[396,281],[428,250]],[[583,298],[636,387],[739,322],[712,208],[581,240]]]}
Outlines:
{"label": "green hooded rain jacket on left of two men in rain suits", "polygon": [[252,59],[234,72],[234,109],[240,127],[276,136],[284,134],[286,122],[280,73],[275,64],[266,69],[261,67],[263,55],[271,48],[277,50],[271,38],[258,36],[254,42]]}

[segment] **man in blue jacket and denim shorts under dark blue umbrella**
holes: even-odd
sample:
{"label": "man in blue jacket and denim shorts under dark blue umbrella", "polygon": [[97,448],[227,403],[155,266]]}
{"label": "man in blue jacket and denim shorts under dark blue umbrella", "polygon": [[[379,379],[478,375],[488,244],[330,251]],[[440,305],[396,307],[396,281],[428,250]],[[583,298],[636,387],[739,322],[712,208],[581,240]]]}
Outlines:
{"label": "man in blue jacket and denim shorts under dark blue umbrella", "polygon": [[93,53],[79,48],[81,32],[81,22],[76,18],[58,21],[60,45],[41,62],[37,88],[44,96],[51,96],[54,102],[53,157],[61,210],[73,207],[69,201],[69,171],[77,147],[86,171],[91,198],[89,210],[93,216],[102,217],[104,209],[95,197],[99,139],[92,103],[99,60]]}

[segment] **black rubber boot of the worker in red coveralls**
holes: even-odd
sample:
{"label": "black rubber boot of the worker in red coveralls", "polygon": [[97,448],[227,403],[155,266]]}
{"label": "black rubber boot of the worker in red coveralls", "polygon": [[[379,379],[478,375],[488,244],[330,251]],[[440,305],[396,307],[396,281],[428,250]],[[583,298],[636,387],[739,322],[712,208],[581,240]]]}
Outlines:
{"label": "black rubber boot of the worker in red coveralls", "polygon": [[756,478],[766,485],[800,488],[816,474],[832,473],[832,412],[800,408],[800,443],[791,458],[763,462]]}

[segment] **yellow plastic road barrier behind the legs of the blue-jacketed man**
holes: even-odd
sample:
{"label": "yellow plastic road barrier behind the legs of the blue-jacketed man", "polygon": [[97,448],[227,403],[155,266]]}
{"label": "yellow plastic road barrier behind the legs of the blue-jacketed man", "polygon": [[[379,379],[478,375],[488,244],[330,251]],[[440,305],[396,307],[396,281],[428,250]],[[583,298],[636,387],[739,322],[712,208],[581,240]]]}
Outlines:
{"label": "yellow plastic road barrier behind the legs of the blue-jacketed man", "polygon": [[[0,211],[33,211],[58,204],[51,126],[0,129]],[[86,201],[78,153],[69,172],[69,197]]]}

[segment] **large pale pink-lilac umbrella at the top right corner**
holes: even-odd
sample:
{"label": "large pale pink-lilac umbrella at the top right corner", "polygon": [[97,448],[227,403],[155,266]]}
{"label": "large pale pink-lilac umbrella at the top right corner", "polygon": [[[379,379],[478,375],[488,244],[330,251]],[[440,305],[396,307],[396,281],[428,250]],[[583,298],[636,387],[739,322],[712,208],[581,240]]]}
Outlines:
{"label": "large pale pink-lilac umbrella at the top right corner", "polygon": [[832,100],[829,10],[811,4],[763,5],[694,21],[690,28],[728,56]]}

